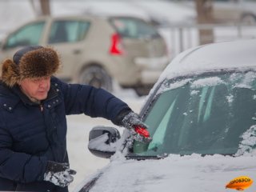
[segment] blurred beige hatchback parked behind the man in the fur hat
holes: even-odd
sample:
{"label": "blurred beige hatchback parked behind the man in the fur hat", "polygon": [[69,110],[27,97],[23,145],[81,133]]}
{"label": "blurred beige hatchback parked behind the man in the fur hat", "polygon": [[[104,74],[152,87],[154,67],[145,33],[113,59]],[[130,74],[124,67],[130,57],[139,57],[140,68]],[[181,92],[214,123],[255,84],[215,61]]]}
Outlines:
{"label": "blurred beige hatchback parked behind the man in the fur hat", "polygon": [[56,48],[63,66],[57,76],[66,82],[112,90],[114,80],[138,95],[148,93],[169,62],[166,42],[158,30],[134,17],[37,18],[7,35],[0,59],[29,45]]}

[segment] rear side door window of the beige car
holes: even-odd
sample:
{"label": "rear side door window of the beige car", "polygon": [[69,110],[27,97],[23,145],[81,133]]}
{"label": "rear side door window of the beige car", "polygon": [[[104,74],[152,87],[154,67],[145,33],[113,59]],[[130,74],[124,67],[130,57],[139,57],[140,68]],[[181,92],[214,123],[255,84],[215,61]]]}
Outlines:
{"label": "rear side door window of the beige car", "polygon": [[57,21],[50,28],[49,43],[78,42],[86,36],[90,22]]}

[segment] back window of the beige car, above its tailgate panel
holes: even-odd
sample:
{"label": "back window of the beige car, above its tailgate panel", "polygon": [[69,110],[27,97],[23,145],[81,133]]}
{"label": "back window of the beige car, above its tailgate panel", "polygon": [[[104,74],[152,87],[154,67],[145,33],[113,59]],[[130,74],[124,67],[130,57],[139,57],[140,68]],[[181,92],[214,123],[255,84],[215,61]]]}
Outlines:
{"label": "back window of the beige car, above its tailgate panel", "polygon": [[139,18],[110,18],[118,34],[126,38],[157,38],[158,30]]}

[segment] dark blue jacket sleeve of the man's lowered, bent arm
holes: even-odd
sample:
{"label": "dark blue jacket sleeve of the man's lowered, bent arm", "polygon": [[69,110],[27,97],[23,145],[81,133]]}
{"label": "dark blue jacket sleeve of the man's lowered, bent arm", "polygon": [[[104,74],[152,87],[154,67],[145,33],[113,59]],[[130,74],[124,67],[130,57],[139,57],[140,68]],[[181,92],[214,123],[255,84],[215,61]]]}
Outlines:
{"label": "dark blue jacket sleeve of the man's lowered, bent arm", "polygon": [[0,177],[24,183],[42,181],[46,170],[46,158],[10,150],[12,138],[1,126]]}

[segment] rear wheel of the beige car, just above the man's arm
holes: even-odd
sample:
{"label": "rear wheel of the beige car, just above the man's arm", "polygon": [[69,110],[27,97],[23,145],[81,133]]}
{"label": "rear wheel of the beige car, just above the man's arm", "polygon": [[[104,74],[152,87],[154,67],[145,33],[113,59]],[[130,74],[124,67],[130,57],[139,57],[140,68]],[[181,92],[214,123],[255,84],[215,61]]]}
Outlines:
{"label": "rear wheel of the beige car, just above the man's arm", "polygon": [[112,91],[112,79],[100,66],[88,66],[79,77],[79,83],[102,88],[104,90]]}

